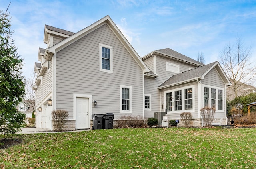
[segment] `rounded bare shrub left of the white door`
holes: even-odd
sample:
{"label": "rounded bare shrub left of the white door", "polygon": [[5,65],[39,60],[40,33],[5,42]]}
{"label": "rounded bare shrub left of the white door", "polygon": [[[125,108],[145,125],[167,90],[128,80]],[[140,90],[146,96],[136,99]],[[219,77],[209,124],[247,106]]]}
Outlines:
{"label": "rounded bare shrub left of the white door", "polygon": [[52,111],[52,122],[53,129],[57,131],[62,131],[68,118],[68,112],[66,110],[53,110]]}

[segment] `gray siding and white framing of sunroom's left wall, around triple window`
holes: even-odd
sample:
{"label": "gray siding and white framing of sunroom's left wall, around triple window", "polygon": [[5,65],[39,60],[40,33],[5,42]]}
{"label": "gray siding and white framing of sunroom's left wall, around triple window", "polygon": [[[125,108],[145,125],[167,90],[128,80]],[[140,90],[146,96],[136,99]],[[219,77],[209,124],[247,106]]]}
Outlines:
{"label": "gray siding and white framing of sunroom's left wall, around triple window", "polygon": [[[190,110],[186,110],[186,112],[190,112],[192,115],[193,115],[193,118],[199,118],[198,117],[198,82],[195,81],[193,83],[186,83],[186,84],[183,84],[183,85],[177,85],[177,86],[174,86],[174,87],[169,87],[169,88],[165,88],[165,89],[162,89],[161,90],[161,97],[163,98],[164,100],[164,103],[162,104],[166,104],[166,100],[165,100],[165,96],[164,96],[164,92],[165,91],[168,91],[168,90],[172,90],[172,91],[177,91],[178,88],[186,88],[186,86],[191,86],[191,85],[194,85],[194,91],[193,91],[193,96],[194,96],[194,104],[193,104],[193,107],[194,107],[194,111],[190,111]],[[176,90],[177,89],[177,90]],[[174,96],[172,96],[174,98]],[[182,99],[184,99],[184,94],[182,94]],[[184,104],[184,102],[182,102],[182,104]],[[163,107],[165,107],[163,105]],[[162,108],[162,106],[161,106]],[[165,112],[165,109],[161,109],[161,112]],[[182,112],[185,112],[185,110],[182,110],[181,112],[171,112],[171,113],[168,113],[167,116],[168,116],[168,119],[180,119],[180,114]]]}

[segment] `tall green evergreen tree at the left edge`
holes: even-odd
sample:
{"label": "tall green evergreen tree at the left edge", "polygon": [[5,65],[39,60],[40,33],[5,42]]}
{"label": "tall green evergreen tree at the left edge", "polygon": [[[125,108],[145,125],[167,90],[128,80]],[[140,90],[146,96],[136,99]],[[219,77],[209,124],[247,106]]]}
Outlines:
{"label": "tall green evergreen tree at the left edge", "polygon": [[0,133],[14,134],[24,125],[25,114],[16,105],[25,95],[21,75],[23,59],[14,45],[8,8],[0,10]]}

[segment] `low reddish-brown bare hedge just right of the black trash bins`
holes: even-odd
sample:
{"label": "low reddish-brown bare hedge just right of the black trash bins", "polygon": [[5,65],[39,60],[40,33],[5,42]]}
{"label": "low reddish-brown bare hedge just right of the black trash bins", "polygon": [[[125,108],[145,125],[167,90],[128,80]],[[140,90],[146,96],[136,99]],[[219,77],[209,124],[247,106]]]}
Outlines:
{"label": "low reddish-brown bare hedge just right of the black trash bins", "polygon": [[142,116],[121,116],[117,122],[117,128],[141,128],[145,126]]}

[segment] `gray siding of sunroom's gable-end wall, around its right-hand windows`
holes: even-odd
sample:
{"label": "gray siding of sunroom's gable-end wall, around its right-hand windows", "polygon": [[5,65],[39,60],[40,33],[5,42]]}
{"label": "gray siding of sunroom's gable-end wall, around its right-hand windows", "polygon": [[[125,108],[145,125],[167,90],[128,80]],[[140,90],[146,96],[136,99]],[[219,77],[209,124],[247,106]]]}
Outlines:
{"label": "gray siding of sunroom's gable-end wall, around its right-hand windows", "polygon": [[[205,75],[204,79],[201,80],[202,85],[209,85],[217,88],[222,88],[223,90],[223,110],[217,110],[215,112],[214,118],[225,118],[226,116],[226,87],[222,79],[220,78],[216,69],[212,69],[207,75]],[[202,87],[202,103],[203,103],[203,94],[204,88]],[[218,101],[218,100],[216,100]]]}

